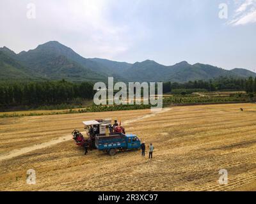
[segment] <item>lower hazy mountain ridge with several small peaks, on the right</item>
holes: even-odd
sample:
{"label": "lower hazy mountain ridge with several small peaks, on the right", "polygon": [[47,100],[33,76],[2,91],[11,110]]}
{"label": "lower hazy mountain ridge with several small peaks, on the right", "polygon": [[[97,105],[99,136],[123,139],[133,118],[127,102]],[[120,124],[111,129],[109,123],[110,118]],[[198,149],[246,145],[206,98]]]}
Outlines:
{"label": "lower hazy mountain ridge with several small peaks, on the right", "polygon": [[125,76],[139,82],[188,82],[194,80],[210,80],[218,77],[256,77],[256,73],[242,69],[234,72],[211,66],[209,64],[188,64],[179,62],[173,66],[164,66],[154,61],[136,62],[130,69],[125,70]]}

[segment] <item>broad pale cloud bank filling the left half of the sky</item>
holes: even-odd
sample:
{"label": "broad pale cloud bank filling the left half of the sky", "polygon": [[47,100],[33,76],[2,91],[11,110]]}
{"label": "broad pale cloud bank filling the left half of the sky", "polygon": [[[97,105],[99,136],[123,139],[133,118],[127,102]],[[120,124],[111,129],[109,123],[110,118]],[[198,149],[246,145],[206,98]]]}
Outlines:
{"label": "broad pale cloud bank filling the left half of the sky", "polygon": [[[33,20],[26,17],[28,3],[36,6]],[[120,15],[113,15],[118,0],[1,0],[0,47],[20,52],[57,40],[84,57],[112,59],[128,52],[145,36],[140,29],[143,25],[134,24],[135,19],[119,21],[122,14],[132,17],[135,3],[123,6]]]}

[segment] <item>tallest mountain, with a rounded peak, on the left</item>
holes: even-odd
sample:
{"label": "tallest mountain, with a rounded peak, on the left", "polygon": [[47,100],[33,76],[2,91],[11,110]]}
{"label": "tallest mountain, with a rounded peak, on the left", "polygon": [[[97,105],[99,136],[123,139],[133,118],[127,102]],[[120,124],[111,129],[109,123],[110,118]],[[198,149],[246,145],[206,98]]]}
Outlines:
{"label": "tallest mountain, with a rounded peak, on the left", "polygon": [[45,79],[65,78],[72,81],[102,81],[106,78],[102,71],[97,71],[100,68],[95,62],[84,59],[71,48],[57,41],[49,41],[38,45],[34,50],[22,51],[19,54],[7,48],[0,48],[0,50],[26,66],[32,77],[37,74]]}

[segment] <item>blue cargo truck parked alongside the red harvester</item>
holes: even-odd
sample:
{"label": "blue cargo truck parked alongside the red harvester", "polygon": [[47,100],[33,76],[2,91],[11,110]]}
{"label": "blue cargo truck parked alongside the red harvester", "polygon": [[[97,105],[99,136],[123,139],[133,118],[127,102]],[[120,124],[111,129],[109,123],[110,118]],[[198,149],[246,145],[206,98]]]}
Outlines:
{"label": "blue cargo truck parked alongside the red harvester", "polygon": [[95,147],[110,156],[114,156],[118,151],[140,149],[140,145],[140,139],[132,134],[115,133],[114,135],[95,137]]}

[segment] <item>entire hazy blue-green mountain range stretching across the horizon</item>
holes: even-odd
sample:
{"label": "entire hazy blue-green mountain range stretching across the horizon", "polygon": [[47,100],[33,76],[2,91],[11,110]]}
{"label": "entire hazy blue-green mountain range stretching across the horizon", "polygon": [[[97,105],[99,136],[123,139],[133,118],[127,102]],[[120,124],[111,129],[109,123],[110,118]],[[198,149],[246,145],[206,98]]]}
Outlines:
{"label": "entire hazy blue-green mountain range stretching across the horizon", "polygon": [[256,77],[247,69],[226,70],[208,64],[179,62],[164,66],[155,61],[130,64],[107,59],[86,59],[71,48],[49,41],[34,50],[15,54],[0,48],[0,80],[106,81],[107,77],[124,82],[188,82],[216,77]]}

